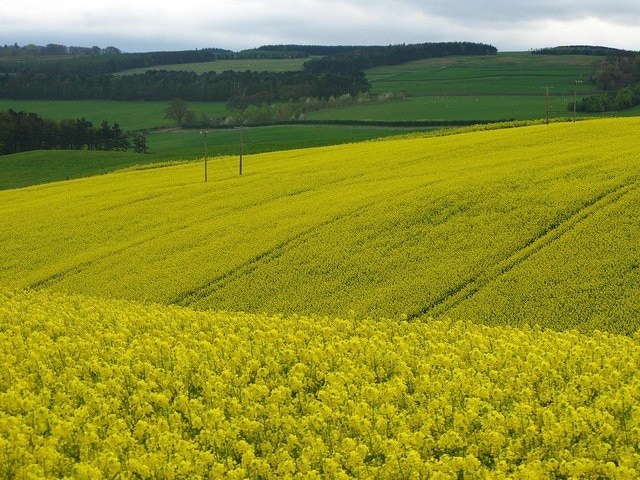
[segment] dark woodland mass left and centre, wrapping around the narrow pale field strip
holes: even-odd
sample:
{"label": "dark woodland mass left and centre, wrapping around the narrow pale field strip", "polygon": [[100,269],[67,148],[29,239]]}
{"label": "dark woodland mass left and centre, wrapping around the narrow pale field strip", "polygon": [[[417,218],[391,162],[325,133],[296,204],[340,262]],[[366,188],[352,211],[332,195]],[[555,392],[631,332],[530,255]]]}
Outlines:
{"label": "dark woodland mass left and centre, wrapping around the narrow pale field strip", "polygon": [[[42,57],[38,61],[0,61],[0,72],[4,72],[0,75],[0,89],[4,97],[12,99],[169,100],[179,97],[188,101],[229,101],[239,97],[256,104],[367,92],[370,85],[361,71],[363,68],[436,56],[497,52],[490,45],[467,42],[327,48],[325,57],[311,59],[303,71],[279,73],[226,71],[198,75],[151,70],[152,66],[167,63],[212,61],[236,55],[215,49],[69,55],[70,58],[63,57],[64,61],[42,60]],[[250,55],[253,58],[290,58],[292,55],[318,55],[323,51],[320,47],[265,47],[251,51]],[[150,71],[136,75],[115,74],[136,67],[149,67]]]}

